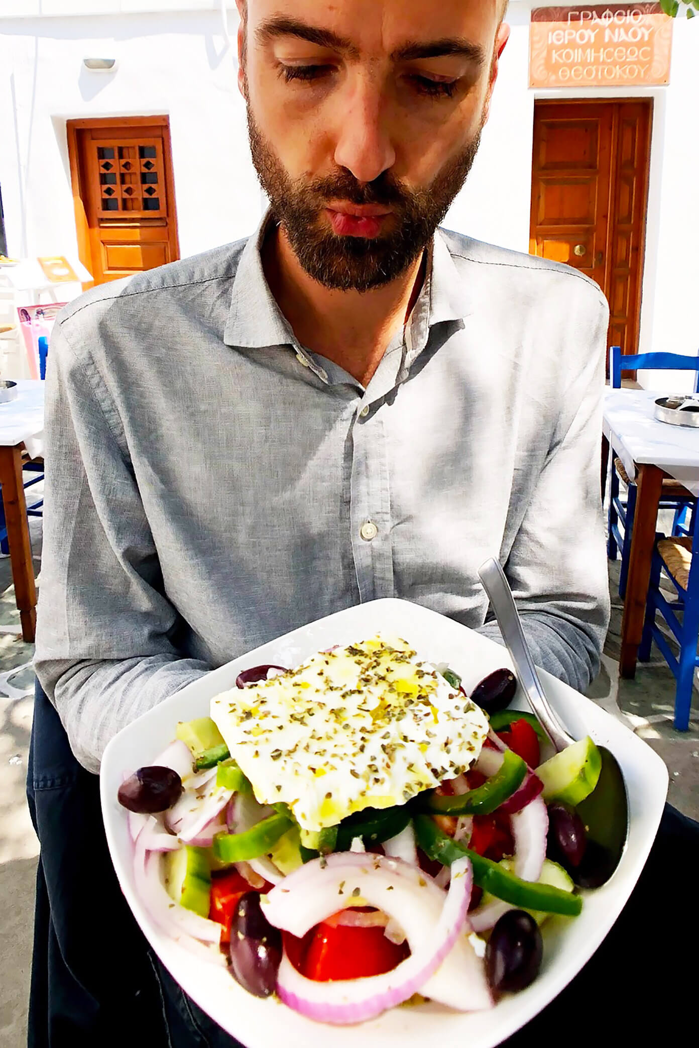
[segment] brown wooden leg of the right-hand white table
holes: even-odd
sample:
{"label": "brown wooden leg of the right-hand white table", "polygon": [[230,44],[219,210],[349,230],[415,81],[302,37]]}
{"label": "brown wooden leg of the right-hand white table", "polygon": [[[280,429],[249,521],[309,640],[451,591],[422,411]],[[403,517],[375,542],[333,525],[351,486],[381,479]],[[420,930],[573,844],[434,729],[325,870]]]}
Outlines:
{"label": "brown wooden leg of the right-hand white table", "polygon": [[621,619],[621,652],[619,673],[621,677],[636,675],[638,646],[643,632],[646,597],[651,576],[651,560],[655,543],[655,527],[660,502],[662,470],[657,465],[639,465],[636,475],[636,514],[631,536],[629,556],[629,577],[624,599]]}

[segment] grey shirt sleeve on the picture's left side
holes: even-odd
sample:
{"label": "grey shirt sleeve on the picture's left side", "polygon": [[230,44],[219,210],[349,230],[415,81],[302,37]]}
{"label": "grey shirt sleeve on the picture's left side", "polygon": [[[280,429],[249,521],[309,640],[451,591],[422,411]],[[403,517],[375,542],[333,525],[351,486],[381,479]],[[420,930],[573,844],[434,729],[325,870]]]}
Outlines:
{"label": "grey shirt sleeve on the picture's left side", "polygon": [[73,754],[96,772],[130,721],[211,668],[182,658],[117,412],[61,323],[46,378],[36,672]]}

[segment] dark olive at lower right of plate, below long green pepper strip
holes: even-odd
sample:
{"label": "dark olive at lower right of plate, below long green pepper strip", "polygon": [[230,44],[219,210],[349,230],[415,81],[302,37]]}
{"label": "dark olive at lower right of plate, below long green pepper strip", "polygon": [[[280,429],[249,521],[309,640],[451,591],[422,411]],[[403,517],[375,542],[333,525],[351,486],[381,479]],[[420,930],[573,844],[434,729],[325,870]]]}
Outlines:
{"label": "dark olive at lower right of plate, below long green pepper strip", "polygon": [[533,917],[509,910],[490,933],[485,947],[485,973],[496,992],[524,989],[539,975],[544,941]]}

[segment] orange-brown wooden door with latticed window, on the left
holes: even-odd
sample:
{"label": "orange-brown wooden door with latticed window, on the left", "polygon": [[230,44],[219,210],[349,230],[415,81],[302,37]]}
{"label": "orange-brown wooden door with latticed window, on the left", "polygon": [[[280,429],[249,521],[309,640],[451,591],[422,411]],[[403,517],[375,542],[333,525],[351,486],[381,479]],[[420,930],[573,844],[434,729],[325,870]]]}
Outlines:
{"label": "orange-brown wooden door with latticed window, on the left", "polygon": [[167,116],[69,121],[68,152],[80,257],[95,284],[179,258]]}

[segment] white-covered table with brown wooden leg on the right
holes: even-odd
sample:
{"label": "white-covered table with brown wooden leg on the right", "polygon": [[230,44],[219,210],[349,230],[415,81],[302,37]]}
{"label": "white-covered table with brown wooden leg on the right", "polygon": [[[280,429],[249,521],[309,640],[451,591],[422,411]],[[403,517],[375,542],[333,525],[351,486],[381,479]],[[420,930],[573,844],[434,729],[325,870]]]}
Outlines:
{"label": "white-covered table with brown wooden leg on the right", "polygon": [[633,677],[636,672],[662,478],[674,477],[699,496],[699,429],[654,418],[654,401],[661,395],[629,389],[608,389],[605,393],[604,435],[629,477],[635,479],[637,489],[621,620],[622,677]]}

